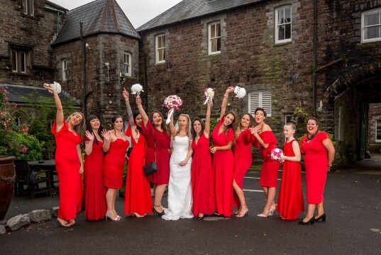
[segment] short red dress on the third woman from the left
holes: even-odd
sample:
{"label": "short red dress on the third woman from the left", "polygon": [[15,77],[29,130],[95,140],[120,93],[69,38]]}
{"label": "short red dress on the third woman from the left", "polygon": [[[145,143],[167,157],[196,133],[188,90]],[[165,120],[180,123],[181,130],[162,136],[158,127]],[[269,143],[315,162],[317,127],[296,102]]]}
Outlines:
{"label": "short red dress on the third woman from the left", "polygon": [[123,168],[128,145],[130,142],[121,138],[110,142],[109,151],[103,159],[103,186],[118,189],[123,185]]}

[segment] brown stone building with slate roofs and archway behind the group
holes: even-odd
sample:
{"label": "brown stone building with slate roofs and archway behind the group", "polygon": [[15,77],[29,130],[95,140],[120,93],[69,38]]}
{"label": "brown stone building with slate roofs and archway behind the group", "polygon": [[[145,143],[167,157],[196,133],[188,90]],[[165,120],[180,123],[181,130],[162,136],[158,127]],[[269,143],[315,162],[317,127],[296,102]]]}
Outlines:
{"label": "brown stone building with slate roofs and archway behind the group", "polygon": [[339,164],[380,142],[381,1],[184,0],[136,30],[115,0],[70,11],[0,1],[0,84],[54,77],[105,121],[125,112],[123,86],[143,85],[148,112],[166,113],[164,98],[177,94],[192,117],[205,114],[205,87],[216,88],[218,117],[227,86],[241,86],[247,95],[229,108],[265,108],[280,147],[295,110],[334,135]]}

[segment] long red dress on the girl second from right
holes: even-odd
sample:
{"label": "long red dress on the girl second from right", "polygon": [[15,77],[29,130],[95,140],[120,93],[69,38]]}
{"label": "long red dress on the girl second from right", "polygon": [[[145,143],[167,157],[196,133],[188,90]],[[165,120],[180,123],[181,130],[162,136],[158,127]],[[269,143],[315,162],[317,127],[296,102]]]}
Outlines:
{"label": "long red dress on the girl second from right", "polygon": [[[285,156],[295,156],[294,149],[292,149],[293,142],[297,143],[297,140],[285,142],[285,147],[283,148]],[[299,212],[304,212],[302,169],[299,162],[285,160],[283,163],[277,211],[280,213],[282,220],[297,220]]]}

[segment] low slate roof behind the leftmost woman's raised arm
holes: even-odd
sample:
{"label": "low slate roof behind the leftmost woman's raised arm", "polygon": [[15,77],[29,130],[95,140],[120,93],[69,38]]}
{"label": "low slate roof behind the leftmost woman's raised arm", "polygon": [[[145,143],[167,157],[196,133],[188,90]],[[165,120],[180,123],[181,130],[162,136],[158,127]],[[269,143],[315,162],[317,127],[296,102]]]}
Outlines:
{"label": "low slate roof behind the leftmost woman's raised arm", "polygon": [[[0,84],[6,91],[8,91],[8,101],[11,103],[17,103],[20,106],[25,106],[28,104],[28,99],[33,96],[36,100],[38,98],[53,98],[52,94],[49,93],[48,89],[43,87],[35,86],[23,86],[23,85],[11,85],[11,84]],[[65,91],[61,91],[60,98],[62,102],[74,101],[74,108],[80,108],[81,104],[75,98],[67,94]]]}

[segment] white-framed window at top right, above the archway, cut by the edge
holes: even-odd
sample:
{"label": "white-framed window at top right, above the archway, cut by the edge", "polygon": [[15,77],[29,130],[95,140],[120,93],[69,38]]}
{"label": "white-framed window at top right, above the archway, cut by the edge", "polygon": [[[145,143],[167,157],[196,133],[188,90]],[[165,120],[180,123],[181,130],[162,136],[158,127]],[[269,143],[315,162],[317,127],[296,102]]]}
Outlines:
{"label": "white-framed window at top right, above the archway, cut by the edge", "polygon": [[362,42],[381,40],[381,8],[361,13],[361,40]]}

